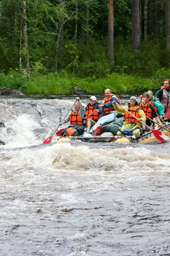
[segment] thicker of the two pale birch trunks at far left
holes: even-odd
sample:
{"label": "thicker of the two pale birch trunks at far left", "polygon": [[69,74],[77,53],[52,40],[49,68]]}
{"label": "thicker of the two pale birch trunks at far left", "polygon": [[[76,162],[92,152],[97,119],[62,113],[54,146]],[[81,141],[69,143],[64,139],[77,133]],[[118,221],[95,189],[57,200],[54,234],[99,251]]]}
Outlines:
{"label": "thicker of the two pale birch trunks at far left", "polygon": [[27,31],[27,15],[26,15],[26,1],[22,2],[22,14],[23,14],[23,23],[22,23],[22,32],[23,32],[23,52],[24,52],[24,65],[26,72],[30,73],[30,63],[29,63],[29,51],[28,51],[28,31]]}

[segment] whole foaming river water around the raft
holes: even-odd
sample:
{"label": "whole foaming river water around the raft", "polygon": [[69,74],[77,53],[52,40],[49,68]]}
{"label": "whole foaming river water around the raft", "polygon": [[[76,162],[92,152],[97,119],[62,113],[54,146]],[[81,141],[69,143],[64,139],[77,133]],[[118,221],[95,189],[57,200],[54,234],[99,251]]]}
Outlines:
{"label": "whole foaming river water around the raft", "polygon": [[0,256],[170,255],[170,143],[42,145],[73,103],[0,97]]}

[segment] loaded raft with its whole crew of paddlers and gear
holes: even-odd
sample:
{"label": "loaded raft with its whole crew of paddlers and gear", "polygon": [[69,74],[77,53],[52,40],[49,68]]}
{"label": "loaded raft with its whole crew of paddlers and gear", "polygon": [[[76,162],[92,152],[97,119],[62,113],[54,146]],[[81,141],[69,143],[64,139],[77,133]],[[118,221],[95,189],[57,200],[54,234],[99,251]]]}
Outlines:
{"label": "loaded raft with its whole crew of paddlers and gear", "polygon": [[[73,108],[59,124],[60,127],[70,122],[67,128],[57,131],[58,142],[75,139],[87,142],[165,142],[170,135],[170,79],[164,79],[156,98],[148,90],[139,101],[131,96],[128,105],[123,107],[120,97],[106,89],[102,104],[98,104],[96,96],[91,96],[85,107],[76,97]],[[48,139],[45,144],[49,143]]]}

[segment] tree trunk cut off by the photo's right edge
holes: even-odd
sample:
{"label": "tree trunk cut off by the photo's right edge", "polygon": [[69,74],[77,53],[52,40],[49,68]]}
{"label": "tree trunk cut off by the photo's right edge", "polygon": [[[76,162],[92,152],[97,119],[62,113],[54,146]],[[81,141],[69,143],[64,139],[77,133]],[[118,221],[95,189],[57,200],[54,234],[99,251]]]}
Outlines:
{"label": "tree trunk cut off by the photo's right edge", "polygon": [[165,2],[165,35],[166,48],[170,49],[170,0]]}

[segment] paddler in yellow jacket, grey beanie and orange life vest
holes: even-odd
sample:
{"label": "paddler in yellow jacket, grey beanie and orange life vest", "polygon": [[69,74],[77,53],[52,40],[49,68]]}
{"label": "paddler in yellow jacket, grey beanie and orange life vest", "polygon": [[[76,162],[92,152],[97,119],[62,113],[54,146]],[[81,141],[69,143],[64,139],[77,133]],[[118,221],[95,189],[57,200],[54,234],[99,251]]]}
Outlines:
{"label": "paddler in yellow jacket, grey beanie and orange life vest", "polygon": [[129,111],[134,116],[136,116],[136,119],[133,116],[131,116],[129,113],[127,113],[125,110],[123,110],[121,107],[119,107],[116,104],[116,101],[113,101],[113,107],[115,108],[115,110],[117,112],[119,112],[125,116],[125,121],[124,121],[122,127],[120,128],[120,130],[117,132],[117,135],[122,136],[124,130],[131,129],[132,134],[133,134],[133,136],[132,136],[133,139],[140,137],[141,123],[139,121],[141,120],[142,122],[145,123],[146,116],[144,114],[144,111],[142,109],[140,109],[140,106],[139,106],[139,103],[137,102],[136,97],[131,96],[128,106],[124,107],[127,111]]}

